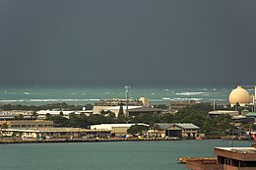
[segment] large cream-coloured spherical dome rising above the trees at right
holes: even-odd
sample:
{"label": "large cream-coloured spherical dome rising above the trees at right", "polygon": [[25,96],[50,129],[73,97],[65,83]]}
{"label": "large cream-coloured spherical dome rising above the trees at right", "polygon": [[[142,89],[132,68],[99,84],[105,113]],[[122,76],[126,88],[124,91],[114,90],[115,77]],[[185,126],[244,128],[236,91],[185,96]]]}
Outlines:
{"label": "large cream-coloured spherical dome rising above the trees at right", "polygon": [[237,86],[229,94],[229,103],[231,106],[234,106],[236,103],[240,106],[244,106],[250,102],[250,98],[251,96],[246,89],[241,86]]}

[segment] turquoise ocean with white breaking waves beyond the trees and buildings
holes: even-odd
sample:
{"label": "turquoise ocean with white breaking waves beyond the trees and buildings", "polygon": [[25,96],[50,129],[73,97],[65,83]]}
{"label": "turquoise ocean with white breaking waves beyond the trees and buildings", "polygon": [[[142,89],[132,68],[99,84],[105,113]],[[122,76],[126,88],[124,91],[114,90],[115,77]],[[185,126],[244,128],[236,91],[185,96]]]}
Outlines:
{"label": "turquoise ocean with white breaking waves beyond the trees and buildings", "polygon": [[[131,86],[130,98],[150,98],[153,104],[197,100],[227,103],[235,86]],[[124,86],[0,86],[0,103],[94,103],[99,99],[125,98]]]}

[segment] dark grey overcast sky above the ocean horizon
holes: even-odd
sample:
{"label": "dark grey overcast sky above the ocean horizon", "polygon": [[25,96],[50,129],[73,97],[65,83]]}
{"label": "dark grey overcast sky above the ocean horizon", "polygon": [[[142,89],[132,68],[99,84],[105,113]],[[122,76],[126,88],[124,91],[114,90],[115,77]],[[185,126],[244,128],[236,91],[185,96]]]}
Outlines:
{"label": "dark grey overcast sky above the ocean horizon", "polygon": [[0,0],[1,84],[256,84],[255,0]]}

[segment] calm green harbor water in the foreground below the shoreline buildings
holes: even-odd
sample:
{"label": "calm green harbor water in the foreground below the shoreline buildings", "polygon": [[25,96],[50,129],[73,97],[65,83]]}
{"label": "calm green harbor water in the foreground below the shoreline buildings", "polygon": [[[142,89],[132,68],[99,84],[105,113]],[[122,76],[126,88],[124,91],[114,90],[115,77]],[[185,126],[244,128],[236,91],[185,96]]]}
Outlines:
{"label": "calm green harbor water in the foreground below the shoreline buildings", "polygon": [[[253,142],[235,141],[234,146]],[[214,156],[222,140],[171,142],[63,142],[0,144],[4,170],[185,170],[181,156]]]}

